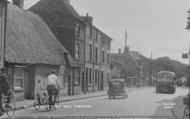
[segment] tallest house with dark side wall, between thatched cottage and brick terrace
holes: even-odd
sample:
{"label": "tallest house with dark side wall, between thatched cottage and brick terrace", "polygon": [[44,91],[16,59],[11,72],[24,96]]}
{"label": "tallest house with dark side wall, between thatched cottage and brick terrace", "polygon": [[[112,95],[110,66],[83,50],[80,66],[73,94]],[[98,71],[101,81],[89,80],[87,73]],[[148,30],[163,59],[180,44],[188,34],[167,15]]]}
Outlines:
{"label": "tallest house with dark side wall, between thatched cottage and brick terrace", "polygon": [[69,95],[84,92],[86,26],[84,21],[68,0],[41,0],[29,10],[43,18],[74,59],[72,89]]}

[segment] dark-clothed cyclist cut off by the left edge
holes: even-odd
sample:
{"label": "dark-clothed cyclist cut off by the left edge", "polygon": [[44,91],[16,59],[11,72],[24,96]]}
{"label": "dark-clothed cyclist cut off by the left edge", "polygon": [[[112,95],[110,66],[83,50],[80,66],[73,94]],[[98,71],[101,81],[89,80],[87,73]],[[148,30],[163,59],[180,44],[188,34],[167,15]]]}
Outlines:
{"label": "dark-clothed cyclist cut off by the left edge", "polygon": [[2,94],[5,94],[7,96],[7,101],[6,101],[6,107],[10,107],[9,103],[10,103],[10,96],[11,96],[11,92],[10,92],[10,84],[8,82],[8,77],[6,75],[6,68],[1,68],[0,69],[1,74],[0,74],[0,111],[2,111],[1,113],[5,112],[3,105],[2,105]]}

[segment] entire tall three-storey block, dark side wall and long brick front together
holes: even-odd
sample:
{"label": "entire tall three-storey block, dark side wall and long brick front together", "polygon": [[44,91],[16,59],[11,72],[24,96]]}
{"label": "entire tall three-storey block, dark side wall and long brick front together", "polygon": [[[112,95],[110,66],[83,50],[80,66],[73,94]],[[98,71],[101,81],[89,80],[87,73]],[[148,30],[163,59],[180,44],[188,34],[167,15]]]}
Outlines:
{"label": "entire tall three-storey block, dark side wall and long brick front together", "polygon": [[111,38],[81,17],[69,0],[40,0],[30,11],[41,16],[74,59],[71,95],[103,90],[109,80]]}

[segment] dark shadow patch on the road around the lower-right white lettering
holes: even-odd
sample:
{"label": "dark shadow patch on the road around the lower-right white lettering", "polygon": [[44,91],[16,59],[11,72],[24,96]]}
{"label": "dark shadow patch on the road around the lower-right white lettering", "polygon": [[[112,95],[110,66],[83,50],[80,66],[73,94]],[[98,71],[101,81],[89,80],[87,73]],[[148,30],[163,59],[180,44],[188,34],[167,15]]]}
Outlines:
{"label": "dark shadow patch on the road around the lower-right white lettering", "polygon": [[159,106],[156,108],[156,111],[152,116],[161,116],[168,119],[182,119],[183,110],[185,108],[185,105],[183,104],[183,97],[185,96],[178,96],[172,99],[166,99],[156,102],[159,104]]}

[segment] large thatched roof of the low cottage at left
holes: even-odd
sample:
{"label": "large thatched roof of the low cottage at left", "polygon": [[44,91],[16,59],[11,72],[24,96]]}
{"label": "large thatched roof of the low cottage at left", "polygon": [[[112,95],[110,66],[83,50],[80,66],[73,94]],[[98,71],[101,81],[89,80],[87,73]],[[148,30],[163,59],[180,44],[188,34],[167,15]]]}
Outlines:
{"label": "large thatched roof of the low cottage at left", "polygon": [[[36,14],[8,4],[5,60],[11,63],[65,65],[64,52],[47,24]],[[71,65],[73,60],[69,55]]]}

